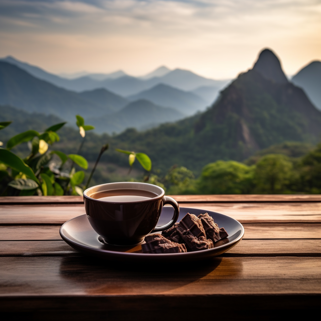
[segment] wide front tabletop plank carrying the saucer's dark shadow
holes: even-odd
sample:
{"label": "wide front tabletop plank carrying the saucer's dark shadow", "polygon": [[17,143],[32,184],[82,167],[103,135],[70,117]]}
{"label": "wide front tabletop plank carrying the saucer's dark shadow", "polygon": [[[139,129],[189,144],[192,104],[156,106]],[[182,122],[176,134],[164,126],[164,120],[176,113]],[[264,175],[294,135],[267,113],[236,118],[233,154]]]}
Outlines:
{"label": "wide front tabletop plank carrying the saucer's dark shadow", "polygon": [[320,257],[223,257],[142,269],[91,257],[1,257],[0,297],[321,294]]}

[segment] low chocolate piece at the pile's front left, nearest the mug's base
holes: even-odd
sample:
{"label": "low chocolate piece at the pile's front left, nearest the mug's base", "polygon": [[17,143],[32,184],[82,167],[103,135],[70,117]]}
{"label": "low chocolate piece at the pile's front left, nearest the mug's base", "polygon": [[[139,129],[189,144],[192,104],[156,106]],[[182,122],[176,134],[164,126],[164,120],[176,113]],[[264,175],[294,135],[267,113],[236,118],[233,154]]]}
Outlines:
{"label": "low chocolate piece at the pile's front left, nearest the mug's base", "polygon": [[187,252],[184,244],[171,242],[160,234],[145,236],[145,242],[146,243],[142,244],[143,253],[161,254]]}

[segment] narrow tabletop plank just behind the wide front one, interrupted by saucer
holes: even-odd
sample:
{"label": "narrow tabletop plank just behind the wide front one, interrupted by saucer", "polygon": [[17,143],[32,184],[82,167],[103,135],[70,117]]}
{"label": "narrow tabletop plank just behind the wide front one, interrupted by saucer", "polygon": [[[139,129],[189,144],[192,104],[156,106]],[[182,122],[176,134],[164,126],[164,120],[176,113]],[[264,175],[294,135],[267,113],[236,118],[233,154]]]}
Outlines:
{"label": "narrow tabletop plank just behind the wide front one, interrupted by saucer", "polygon": [[[67,256],[79,252],[61,241],[1,241],[0,256]],[[321,256],[319,239],[242,240],[222,256]]]}

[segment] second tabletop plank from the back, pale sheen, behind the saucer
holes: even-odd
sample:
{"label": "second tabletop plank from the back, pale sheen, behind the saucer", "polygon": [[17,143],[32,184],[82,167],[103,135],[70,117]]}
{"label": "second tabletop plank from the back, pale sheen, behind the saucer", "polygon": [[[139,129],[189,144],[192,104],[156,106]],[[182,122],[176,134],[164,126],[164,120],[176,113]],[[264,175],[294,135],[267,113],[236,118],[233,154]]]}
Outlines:
{"label": "second tabletop plank from the back, pale sheen, behind the saucer", "polygon": [[[321,223],[321,203],[182,203],[180,206],[222,213],[241,223]],[[0,205],[0,225],[58,225],[84,213],[83,204]]]}

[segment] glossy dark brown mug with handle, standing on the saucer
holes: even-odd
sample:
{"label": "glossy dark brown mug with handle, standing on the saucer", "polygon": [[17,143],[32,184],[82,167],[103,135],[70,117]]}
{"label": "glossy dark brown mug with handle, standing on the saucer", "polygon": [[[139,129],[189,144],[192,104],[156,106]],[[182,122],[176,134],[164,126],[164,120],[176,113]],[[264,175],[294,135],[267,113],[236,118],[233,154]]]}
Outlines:
{"label": "glossy dark brown mug with handle, standing on the saucer", "polygon": [[[148,192],[155,197],[134,202],[110,202],[95,198],[99,193],[130,190],[129,195]],[[117,194],[118,195],[118,194]],[[92,228],[108,244],[136,245],[151,232],[169,229],[178,219],[179,206],[161,187],[147,183],[120,182],[90,187],[83,192],[87,218]],[[157,226],[163,205],[174,207],[174,214],[167,224]]]}

